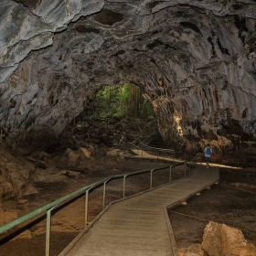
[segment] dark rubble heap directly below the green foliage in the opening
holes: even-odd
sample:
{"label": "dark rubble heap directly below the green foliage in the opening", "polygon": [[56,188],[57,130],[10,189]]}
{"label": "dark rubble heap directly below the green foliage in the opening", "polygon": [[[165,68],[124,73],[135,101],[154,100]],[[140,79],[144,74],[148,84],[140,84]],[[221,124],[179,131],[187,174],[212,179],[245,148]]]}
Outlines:
{"label": "dark rubble heap directly below the green foliage in the opening", "polygon": [[121,147],[126,144],[144,142],[151,134],[157,133],[157,123],[154,120],[127,119],[94,119],[80,120],[70,124],[64,130],[59,140],[60,146],[90,147]]}

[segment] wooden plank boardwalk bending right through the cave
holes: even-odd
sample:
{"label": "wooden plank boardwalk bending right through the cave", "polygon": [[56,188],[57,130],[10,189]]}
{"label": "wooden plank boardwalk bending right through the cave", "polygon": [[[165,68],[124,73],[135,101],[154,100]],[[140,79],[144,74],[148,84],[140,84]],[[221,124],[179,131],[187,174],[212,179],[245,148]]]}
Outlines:
{"label": "wooden plank boardwalk bending right through the cave", "polygon": [[81,233],[60,255],[176,256],[176,242],[166,208],[217,181],[218,167],[207,169],[197,165],[187,178],[112,204],[91,229]]}

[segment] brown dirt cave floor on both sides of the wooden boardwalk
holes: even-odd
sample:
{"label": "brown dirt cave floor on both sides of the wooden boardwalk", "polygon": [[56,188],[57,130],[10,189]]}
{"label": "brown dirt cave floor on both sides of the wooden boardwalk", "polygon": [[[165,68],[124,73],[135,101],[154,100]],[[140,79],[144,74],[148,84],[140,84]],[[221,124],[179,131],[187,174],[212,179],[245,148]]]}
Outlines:
{"label": "brown dirt cave floor on both sides of the wooden boardwalk", "polygon": [[[91,184],[103,177],[119,173],[133,172],[153,167],[168,165],[159,162],[138,162],[128,160],[116,163],[112,168],[84,171],[80,176],[70,176],[59,182],[40,182],[34,184],[37,194],[23,197],[26,203],[18,204],[16,201],[5,202],[3,208],[7,211],[15,210],[21,217],[31,210],[40,208],[59,197],[63,197],[80,187]],[[142,183],[138,177],[127,178],[127,196],[148,188],[149,176],[144,177]],[[168,180],[168,168],[160,172],[160,182]],[[182,176],[179,170],[173,173],[176,179]],[[156,179],[154,179],[156,186]],[[107,185],[106,204],[114,199],[122,198],[123,180],[113,180]],[[187,206],[169,209],[169,217],[175,232],[177,246],[187,247],[202,241],[203,231],[209,220],[225,223],[231,227],[241,229],[245,238],[256,245],[256,169],[229,169],[220,168],[219,185],[202,191],[199,197],[192,197]],[[89,221],[102,209],[102,188],[93,190],[90,194]],[[0,237],[1,256],[40,256],[45,255],[45,229],[46,220],[29,224],[31,238],[22,240],[9,240],[6,235]],[[50,242],[50,255],[59,255],[69,242],[83,229],[84,226],[84,197],[72,202],[68,207],[54,212],[52,217],[52,232]]]}

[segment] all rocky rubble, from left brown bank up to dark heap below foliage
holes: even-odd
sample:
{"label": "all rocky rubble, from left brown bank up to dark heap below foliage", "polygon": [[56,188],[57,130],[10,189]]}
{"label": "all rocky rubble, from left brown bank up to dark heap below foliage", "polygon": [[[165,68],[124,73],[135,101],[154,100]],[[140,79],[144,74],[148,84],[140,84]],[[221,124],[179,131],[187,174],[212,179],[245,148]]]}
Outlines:
{"label": "all rocky rubble, from left brown bank up to dark heap below foliage", "polygon": [[[33,147],[10,149],[2,144],[0,198],[9,199],[37,193],[33,182],[58,182],[80,171],[92,171],[120,162],[126,144],[144,141],[155,122],[106,120],[77,122],[59,139],[56,151],[34,151]],[[13,155],[11,154],[13,153]],[[1,166],[2,165],[2,166]]]}

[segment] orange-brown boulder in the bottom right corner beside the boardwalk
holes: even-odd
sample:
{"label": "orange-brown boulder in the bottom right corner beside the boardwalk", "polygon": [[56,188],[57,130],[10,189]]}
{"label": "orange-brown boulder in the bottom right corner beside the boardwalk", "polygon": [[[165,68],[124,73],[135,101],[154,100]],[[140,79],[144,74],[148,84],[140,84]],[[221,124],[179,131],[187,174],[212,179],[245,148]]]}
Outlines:
{"label": "orange-brown boulder in the bottom right corner beside the boardwalk", "polygon": [[256,255],[255,246],[244,239],[240,229],[229,228],[213,221],[204,230],[202,248],[209,256]]}

